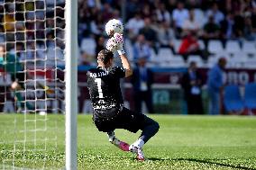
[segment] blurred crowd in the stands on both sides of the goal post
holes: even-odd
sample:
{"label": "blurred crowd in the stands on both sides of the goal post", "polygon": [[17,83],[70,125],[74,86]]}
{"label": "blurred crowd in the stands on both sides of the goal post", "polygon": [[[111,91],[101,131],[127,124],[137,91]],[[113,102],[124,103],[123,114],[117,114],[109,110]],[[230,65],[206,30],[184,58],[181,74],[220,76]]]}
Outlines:
{"label": "blurred crowd in the stands on both sides of the goal post", "polygon": [[[7,42],[9,51],[21,51],[21,59],[57,56],[61,64],[65,1],[57,0],[55,8],[54,2],[0,3],[0,42]],[[185,60],[197,55],[206,61],[213,54],[212,46],[208,47],[211,40],[220,42],[223,49],[229,40],[236,40],[240,47],[243,41],[256,40],[256,0],[78,0],[79,64],[95,62],[108,38],[105,23],[112,18],[123,22],[125,49],[133,60],[153,60],[163,54]]]}

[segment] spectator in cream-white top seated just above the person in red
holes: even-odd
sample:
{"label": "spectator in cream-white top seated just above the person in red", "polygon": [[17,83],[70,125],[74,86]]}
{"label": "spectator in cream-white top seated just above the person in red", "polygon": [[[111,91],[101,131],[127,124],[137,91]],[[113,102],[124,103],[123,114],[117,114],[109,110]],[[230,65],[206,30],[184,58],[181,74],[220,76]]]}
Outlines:
{"label": "spectator in cream-white top seated just above the person in red", "polygon": [[194,31],[194,32],[199,33],[198,31],[200,30],[200,25],[195,20],[194,10],[190,10],[189,11],[189,17],[184,21],[184,23],[182,25],[182,30],[184,32],[186,32],[186,31]]}

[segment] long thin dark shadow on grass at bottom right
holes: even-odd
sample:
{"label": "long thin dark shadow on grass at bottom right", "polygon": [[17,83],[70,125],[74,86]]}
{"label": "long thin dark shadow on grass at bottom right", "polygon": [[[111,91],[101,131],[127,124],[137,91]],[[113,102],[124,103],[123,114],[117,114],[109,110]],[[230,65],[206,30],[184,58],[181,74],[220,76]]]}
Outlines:
{"label": "long thin dark shadow on grass at bottom right", "polygon": [[202,159],[197,159],[197,158],[174,158],[174,159],[171,159],[171,158],[151,157],[151,158],[148,158],[148,159],[151,160],[151,161],[190,161],[190,162],[197,162],[197,163],[202,163],[202,164],[232,167],[232,168],[237,168],[237,169],[256,170],[255,168],[251,168],[251,167],[245,167],[245,166],[239,166],[239,165],[230,165],[230,164],[214,162],[213,160],[202,160]]}

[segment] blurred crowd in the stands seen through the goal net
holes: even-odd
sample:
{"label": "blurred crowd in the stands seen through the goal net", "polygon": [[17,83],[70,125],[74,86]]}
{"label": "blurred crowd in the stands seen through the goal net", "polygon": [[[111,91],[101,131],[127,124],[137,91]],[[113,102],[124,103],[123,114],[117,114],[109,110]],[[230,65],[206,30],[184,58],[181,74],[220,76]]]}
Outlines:
{"label": "blurred crowd in the stands seen through the goal net", "polygon": [[49,67],[54,60],[63,65],[64,6],[64,0],[0,1],[0,45],[21,61],[33,64],[47,58]]}

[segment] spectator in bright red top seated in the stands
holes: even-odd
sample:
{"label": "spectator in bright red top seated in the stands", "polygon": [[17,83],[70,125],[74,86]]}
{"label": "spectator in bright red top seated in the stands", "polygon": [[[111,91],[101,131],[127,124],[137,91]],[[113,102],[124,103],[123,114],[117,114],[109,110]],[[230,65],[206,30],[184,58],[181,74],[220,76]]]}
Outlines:
{"label": "spectator in bright red top seated in the stands", "polygon": [[187,60],[188,55],[199,55],[203,59],[207,59],[208,53],[205,50],[200,49],[197,35],[195,32],[188,32],[182,39],[178,54],[182,55]]}

